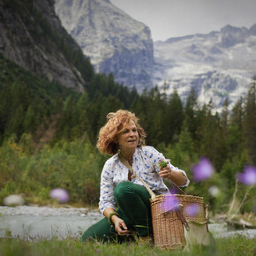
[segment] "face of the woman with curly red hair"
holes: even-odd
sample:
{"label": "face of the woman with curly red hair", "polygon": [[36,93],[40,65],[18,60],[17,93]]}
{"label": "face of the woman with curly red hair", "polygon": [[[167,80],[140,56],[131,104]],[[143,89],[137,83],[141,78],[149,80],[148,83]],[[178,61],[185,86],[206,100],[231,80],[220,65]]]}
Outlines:
{"label": "face of the woman with curly red hair", "polygon": [[135,149],[139,143],[139,133],[133,121],[124,127],[118,138],[122,150]]}

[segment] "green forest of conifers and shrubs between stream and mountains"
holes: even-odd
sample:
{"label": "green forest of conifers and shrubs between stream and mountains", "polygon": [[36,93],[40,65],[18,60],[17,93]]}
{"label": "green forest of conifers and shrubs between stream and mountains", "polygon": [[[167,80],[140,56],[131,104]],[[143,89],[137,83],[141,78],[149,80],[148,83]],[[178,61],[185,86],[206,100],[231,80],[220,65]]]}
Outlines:
{"label": "green forest of conifers and shrubs between stream and mountains", "polygon": [[[192,89],[186,102],[158,87],[138,94],[111,74],[90,72],[84,93],[34,76],[0,56],[0,202],[21,194],[27,204],[52,204],[49,192],[64,188],[69,204],[96,207],[102,166],[109,155],[96,148],[106,115],[129,109],[147,132],[147,145],[184,169],[185,192],[203,196],[211,211],[227,212],[236,201],[253,212],[255,186],[237,183],[237,174],[256,164],[256,76],[246,97],[222,112],[212,102],[200,106]],[[197,182],[192,166],[207,157],[214,175]],[[209,192],[215,188],[216,193]]]}

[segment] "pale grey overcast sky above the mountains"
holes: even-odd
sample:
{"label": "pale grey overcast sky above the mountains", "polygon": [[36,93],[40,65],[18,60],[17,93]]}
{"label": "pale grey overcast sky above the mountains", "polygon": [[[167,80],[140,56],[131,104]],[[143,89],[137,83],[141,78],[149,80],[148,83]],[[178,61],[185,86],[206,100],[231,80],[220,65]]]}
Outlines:
{"label": "pale grey overcast sky above the mountains", "polygon": [[149,26],[153,41],[256,23],[256,0],[110,0]]}

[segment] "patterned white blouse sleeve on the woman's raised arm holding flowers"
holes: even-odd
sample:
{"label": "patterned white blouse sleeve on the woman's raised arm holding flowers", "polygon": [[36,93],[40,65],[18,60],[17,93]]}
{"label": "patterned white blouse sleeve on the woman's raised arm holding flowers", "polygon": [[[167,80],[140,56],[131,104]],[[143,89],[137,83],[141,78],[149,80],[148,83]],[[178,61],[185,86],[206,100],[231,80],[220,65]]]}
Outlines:
{"label": "patterned white blouse sleeve on the woman's raised arm holding flowers", "polygon": [[[162,153],[158,152],[154,147],[148,147],[147,154],[148,154],[148,157],[151,158],[152,161],[154,162],[154,169],[158,173],[160,171],[160,166],[158,165],[158,162],[160,160],[167,161],[167,159],[163,156]],[[184,177],[186,177],[186,184],[181,185],[181,187],[185,187],[185,186],[187,186],[190,183],[190,180],[186,176],[186,173],[185,173],[185,171],[183,169],[178,169],[177,167],[172,165],[170,162],[169,162],[169,167],[170,167],[170,169],[174,169],[176,171],[182,172]]]}

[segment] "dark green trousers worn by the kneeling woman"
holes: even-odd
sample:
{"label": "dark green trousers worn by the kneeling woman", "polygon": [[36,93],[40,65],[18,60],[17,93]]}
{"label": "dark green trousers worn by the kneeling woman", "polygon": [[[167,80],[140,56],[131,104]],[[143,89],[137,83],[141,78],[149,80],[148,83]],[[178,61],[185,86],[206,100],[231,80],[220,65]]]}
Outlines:
{"label": "dark green trousers worn by the kneeling woman", "polygon": [[[115,187],[114,198],[118,206],[117,213],[131,233],[135,231],[140,237],[152,234],[150,194],[145,187],[132,182],[122,182]],[[118,236],[115,226],[105,217],[88,228],[81,241],[97,239],[103,242],[122,242],[126,238]]]}

